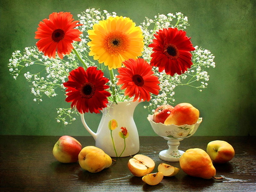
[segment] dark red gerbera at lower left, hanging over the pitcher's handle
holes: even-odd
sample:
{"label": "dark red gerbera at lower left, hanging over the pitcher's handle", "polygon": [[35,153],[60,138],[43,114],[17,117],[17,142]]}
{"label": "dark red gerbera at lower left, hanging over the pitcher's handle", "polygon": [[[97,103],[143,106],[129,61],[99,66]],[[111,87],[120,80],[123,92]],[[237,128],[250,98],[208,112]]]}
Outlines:
{"label": "dark red gerbera at lower left, hanging over the pitcher's handle", "polygon": [[81,66],[69,73],[68,81],[63,85],[67,87],[67,102],[72,102],[71,107],[76,106],[82,114],[85,112],[100,113],[106,107],[111,94],[106,91],[108,78],[104,77],[101,70],[90,66],[84,70]]}

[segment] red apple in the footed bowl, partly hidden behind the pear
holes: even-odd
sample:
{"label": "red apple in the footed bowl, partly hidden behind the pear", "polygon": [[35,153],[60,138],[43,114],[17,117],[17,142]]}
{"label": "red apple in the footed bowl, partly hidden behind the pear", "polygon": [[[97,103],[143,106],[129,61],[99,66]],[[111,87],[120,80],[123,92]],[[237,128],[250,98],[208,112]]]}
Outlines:
{"label": "red apple in the footed bowl, partly hidden behind the pear", "polygon": [[153,121],[155,123],[164,123],[166,118],[171,114],[171,111],[174,107],[171,105],[161,105],[160,107],[156,108],[153,114]]}

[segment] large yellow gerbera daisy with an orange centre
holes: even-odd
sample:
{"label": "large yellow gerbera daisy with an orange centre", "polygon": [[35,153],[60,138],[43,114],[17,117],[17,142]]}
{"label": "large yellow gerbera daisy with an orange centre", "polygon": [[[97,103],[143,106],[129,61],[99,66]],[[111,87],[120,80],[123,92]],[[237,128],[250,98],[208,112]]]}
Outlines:
{"label": "large yellow gerbera daisy with an orange centre", "polygon": [[136,59],[142,55],[143,36],[140,27],[130,18],[122,16],[109,17],[93,25],[93,30],[88,30],[90,41],[89,55],[94,60],[109,67],[109,70],[120,68],[122,62]]}

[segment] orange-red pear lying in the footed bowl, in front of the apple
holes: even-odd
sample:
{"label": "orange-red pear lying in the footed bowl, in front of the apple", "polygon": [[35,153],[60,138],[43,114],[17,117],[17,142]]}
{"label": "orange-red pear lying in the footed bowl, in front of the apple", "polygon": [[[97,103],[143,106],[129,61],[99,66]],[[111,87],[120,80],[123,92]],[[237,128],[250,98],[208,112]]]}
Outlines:
{"label": "orange-red pear lying in the footed bowl, in front of the apple", "polygon": [[190,103],[180,103],[174,107],[171,114],[164,121],[164,124],[192,125],[199,119],[199,110]]}

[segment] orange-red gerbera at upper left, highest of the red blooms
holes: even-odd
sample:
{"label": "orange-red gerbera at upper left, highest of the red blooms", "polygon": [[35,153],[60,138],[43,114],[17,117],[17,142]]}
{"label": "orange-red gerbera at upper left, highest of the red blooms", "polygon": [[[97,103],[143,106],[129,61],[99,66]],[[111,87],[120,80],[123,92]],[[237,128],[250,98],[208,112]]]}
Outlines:
{"label": "orange-red gerbera at upper left, highest of the red blooms", "polygon": [[35,39],[39,39],[36,43],[39,51],[45,56],[55,58],[56,51],[63,59],[63,54],[68,55],[73,49],[73,41],[81,41],[79,35],[81,31],[75,29],[79,21],[73,21],[70,12],[53,12],[49,15],[49,19],[43,19],[39,23],[38,31],[35,32]]}

